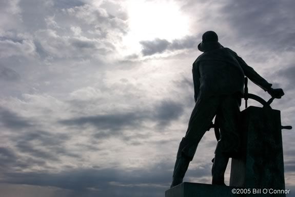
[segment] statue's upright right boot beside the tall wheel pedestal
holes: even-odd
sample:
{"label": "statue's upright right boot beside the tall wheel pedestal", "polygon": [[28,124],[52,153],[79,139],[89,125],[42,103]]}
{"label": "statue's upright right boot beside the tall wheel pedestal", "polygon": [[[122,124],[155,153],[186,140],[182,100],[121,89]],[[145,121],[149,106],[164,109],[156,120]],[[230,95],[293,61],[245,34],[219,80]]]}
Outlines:
{"label": "statue's upright right boot beside the tall wheel pedestal", "polygon": [[212,166],[212,184],[225,185],[224,173],[228,163],[229,157],[222,152],[215,153],[214,163]]}

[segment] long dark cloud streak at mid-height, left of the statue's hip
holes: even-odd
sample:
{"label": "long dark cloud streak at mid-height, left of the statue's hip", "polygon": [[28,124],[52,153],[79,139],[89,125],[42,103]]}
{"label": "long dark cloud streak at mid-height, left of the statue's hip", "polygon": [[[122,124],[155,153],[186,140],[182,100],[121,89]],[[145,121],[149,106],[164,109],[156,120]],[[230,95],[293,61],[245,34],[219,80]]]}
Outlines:
{"label": "long dark cloud streak at mid-height, left of the statue's hip", "polygon": [[111,136],[124,136],[122,130],[142,127],[145,121],[157,122],[163,128],[172,120],[178,119],[183,113],[181,103],[165,99],[156,103],[151,110],[135,110],[125,113],[113,113],[94,116],[84,116],[59,121],[61,124],[74,127],[94,126],[99,130],[94,137],[107,138]]}

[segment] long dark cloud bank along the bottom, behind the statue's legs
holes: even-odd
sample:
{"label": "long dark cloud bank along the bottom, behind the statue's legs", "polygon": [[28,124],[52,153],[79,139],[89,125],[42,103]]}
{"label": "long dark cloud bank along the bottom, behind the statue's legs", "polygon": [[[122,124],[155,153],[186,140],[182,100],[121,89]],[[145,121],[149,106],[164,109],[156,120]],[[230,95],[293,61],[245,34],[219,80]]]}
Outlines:
{"label": "long dark cloud bank along the bottom, behind the statue's legs", "polygon": [[[88,196],[163,196],[172,180],[172,164],[158,163],[149,169],[126,171],[113,168],[80,168],[49,172],[6,172],[5,183],[35,186],[53,186],[69,189],[73,196],[93,191]],[[193,169],[187,172],[192,177],[206,177],[206,169]],[[46,177],[46,178],[45,178]],[[97,191],[95,191],[97,190]]]}

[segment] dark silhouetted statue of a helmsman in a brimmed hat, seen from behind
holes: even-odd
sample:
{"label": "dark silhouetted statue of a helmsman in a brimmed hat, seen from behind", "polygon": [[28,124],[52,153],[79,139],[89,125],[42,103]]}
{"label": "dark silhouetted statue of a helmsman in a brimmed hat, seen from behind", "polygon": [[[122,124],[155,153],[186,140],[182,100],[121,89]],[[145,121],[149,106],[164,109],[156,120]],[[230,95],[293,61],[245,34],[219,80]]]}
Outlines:
{"label": "dark silhouetted statue of a helmsman in a brimmed hat, seen from behind", "polygon": [[284,95],[283,89],[271,88],[272,84],[237,53],[223,47],[215,32],[205,32],[198,48],[203,53],[192,66],[195,106],[185,137],[179,145],[171,188],[183,182],[188,165],[214,116],[218,118],[221,136],[215,149],[212,184],[225,185],[224,172],[228,159],[239,154],[238,119],[245,76],[274,98]]}

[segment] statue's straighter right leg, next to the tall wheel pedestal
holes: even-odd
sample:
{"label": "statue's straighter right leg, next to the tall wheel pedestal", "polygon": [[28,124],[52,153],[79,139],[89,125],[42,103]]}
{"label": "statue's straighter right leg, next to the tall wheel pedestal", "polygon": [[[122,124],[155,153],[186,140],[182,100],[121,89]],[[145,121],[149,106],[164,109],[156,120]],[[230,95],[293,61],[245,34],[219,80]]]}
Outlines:
{"label": "statue's straighter right leg, next to the tall wheel pedestal", "polygon": [[230,155],[236,154],[239,147],[238,123],[239,123],[239,99],[234,95],[221,96],[217,111],[221,139],[215,150],[212,166],[212,184],[225,185],[224,173]]}

